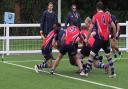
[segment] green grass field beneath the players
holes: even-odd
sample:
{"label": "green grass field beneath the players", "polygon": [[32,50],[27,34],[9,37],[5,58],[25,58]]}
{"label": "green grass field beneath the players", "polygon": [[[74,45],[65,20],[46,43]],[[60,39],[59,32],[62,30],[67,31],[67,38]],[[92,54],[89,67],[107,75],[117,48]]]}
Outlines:
{"label": "green grass field beneath the players", "polygon": [[58,66],[56,75],[50,75],[49,69],[35,73],[33,66],[41,63],[40,54],[5,56],[8,62],[0,62],[0,89],[128,89],[127,57],[128,53],[124,52],[121,60],[115,62],[117,77],[109,78],[96,68],[89,77],[79,76],[67,56]]}

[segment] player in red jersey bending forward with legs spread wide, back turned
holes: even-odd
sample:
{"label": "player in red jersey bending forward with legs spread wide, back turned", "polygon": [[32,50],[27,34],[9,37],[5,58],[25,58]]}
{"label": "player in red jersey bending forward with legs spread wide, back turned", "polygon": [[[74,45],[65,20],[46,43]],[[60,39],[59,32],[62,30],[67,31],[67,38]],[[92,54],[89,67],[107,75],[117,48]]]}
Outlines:
{"label": "player in red jersey bending forward with legs spread wide, back turned", "polygon": [[80,75],[85,75],[82,63],[77,55],[77,48],[78,48],[78,39],[79,39],[80,30],[77,27],[76,19],[73,20],[72,25],[69,26],[65,30],[65,35],[63,36],[64,44],[60,48],[60,52],[58,54],[58,58],[55,60],[53,67],[51,69],[51,74],[54,73],[55,68],[59,64],[60,60],[62,59],[63,55],[68,53],[69,56],[72,56],[74,60],[76,60],[76,63],[81,70]]}

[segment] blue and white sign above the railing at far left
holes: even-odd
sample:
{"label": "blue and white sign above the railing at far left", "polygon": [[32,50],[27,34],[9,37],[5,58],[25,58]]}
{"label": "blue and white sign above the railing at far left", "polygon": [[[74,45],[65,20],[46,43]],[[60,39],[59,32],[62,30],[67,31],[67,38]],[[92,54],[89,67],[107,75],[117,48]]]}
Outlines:
{"label": "blue and white sign above the railing at far left", "polygon": [[14,24],[14,22],[15,22],[15,13],[5,12],[4,13],[4,22],[6,24]]}

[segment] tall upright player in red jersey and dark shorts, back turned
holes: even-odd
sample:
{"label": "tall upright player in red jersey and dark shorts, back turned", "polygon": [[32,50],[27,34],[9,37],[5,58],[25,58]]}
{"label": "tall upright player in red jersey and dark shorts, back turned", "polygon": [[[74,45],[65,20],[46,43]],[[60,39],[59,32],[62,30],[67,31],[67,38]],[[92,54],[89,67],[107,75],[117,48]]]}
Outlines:
{"label": "tall upright player in red jersey and dark shorts, back turned", "polygon": [[[115,24],[113,23],[113,21],[111,20],[110,16],[108,16],[105,12],[103,12],[103,3],[101,1],[97,3],[96,10],[97,10],[97,13],[93,16],[93,19],[92,19],[92,24],[93,24],[92,27],[95,26],[95,32],[96,32],[95,42],[91,49],[89,59],[87,62],[87,66],[85,68],[85,72],[86,72],[86,74],[88,74],[88,72],[90,71],[90,68],[93,64],[95,55],[102,48],[104,50],[104,52],[106,53],[106,57],[107,57],[109,66],[111,68],[110,77],[115,77],[116,76],[115,68],[114,68],[112,56],[110,53],[108,24],[110,23],[113,27],[113,31],[114,31],[113,39],[115,39],[116,27],[115,27]],[[92,31],[92,28],[90,28],[89,35],[91,34],[91,31]],[[89,38],[89,35],[88,35],[88,38]]]}

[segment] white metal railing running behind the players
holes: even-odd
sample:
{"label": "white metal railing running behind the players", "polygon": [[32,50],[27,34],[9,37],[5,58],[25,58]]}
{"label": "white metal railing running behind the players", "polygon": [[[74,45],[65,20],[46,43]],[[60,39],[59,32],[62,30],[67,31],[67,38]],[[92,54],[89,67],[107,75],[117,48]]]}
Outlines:
{"label": "white metal railing running behind the players", "polygon": [[[82,23],[83,25],[83,23]],[[125,48],[120,48],[121,50],[128,51],[128,21],[126,23],[119,23],[120,26],[126,26],[126,34],[121,35],[120,37],[125,37],[126,38],[126,47]],[[64,26],[64,24],[62,24]],[[40,36],[10,36],[9,31],[10,27],[40,27],[40,24],[0,24],[0,28],[4,28],[5,36],[0,36],[0,40],[5,40],[5,51],[1,50],[0,54],[12,54],[12,53],[41,53],[40,50],[18,50],[18,51],[10,51],[9,45],[10,45],[10,40],[12,39],[41,39]],[[53,50],[57,51],[57,50]]]}

